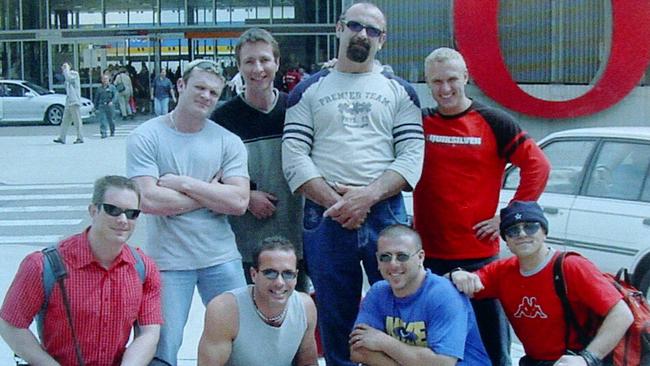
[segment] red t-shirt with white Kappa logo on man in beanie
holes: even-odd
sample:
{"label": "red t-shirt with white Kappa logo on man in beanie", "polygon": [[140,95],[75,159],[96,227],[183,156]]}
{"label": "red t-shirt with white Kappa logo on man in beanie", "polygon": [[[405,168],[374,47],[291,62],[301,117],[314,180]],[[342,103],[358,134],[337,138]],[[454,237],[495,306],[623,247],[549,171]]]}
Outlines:
{"label": "red t-shirt with white Kappa logo on man in beanie", "polygon": [[[553,260],[528,277],[519,271],[517,257],[498,260],[476,271],[485,289],[475,298],[497,298],[524,346],[536,360],[557,360],[565,351],[565,321],[562,303],[555,292]],[[623,297],[586,258],[564,259],[564,278],[569,302],[578,324],[605,317]],[[575,331],[569,336],[571,349],[582,349]]]}

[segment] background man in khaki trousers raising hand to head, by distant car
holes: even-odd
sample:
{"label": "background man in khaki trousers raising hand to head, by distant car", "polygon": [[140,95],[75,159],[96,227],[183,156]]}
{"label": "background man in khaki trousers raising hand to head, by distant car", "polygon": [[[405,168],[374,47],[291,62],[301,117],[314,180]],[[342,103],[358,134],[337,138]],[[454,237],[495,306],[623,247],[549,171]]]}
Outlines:
{"label": "background man in khaki trousers raising hand to head, by distant car", "polygon": [[61,121],[61,130],[59,137],[54,139],[58,144],[65,144],[65,138],[68,133],[70,124],[74,123],[77,128],[77,139],[75,144],[84,142],[83,133],[81,133],[81,83],[79,82],[79,73],[72,70],[69,63],[64,62],[61,65],[61,71],[65,78],[65,108],[63,109],[63,119]]}

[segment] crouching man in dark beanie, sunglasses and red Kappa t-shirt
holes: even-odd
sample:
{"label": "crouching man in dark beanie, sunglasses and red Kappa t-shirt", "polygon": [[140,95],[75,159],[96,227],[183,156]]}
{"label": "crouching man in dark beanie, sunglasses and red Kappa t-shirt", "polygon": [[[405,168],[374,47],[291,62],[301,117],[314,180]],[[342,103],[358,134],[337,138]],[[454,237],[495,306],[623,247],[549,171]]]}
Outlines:
{"label": "crouching man in dark beanie, sunglasses and red Kappa t-shirt", "polygon": [[[477,299],[496,298],[524,346],[520,365],[599,365],[632,324],[622,296],[586,258],[568,255],[563,271],[568,299],[581,327],[604,318],[596,336],[584,347],[573,327],[567,347],[562,303],[553,282],[558,252],[544,243],[548,221],[536,202],[514,201],[501,210],[501,237],[514,256],[472,273],[450,272],[456,287]],[[567,355],[567,348],[579,351]]]}

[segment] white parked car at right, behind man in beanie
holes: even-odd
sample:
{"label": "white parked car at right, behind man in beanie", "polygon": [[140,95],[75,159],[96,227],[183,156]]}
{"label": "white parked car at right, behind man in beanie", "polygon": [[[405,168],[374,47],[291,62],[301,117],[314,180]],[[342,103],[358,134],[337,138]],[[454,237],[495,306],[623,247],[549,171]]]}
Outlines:
{"label": "white parked car at right, behind man in beanie", "polygon": [[[627,267],[644,293],[650,287],[650,128],[604,127],[553,133],[539,145],[551,173],[539,204],[547,242],[582,253],[601,270]],[[519,184],[506,170],[500,205]]]}

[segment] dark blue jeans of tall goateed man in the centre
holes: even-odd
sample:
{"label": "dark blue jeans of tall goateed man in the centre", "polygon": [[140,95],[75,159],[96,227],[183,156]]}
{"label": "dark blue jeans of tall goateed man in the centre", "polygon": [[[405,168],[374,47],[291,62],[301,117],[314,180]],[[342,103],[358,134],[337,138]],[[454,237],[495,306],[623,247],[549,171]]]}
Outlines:
{"label": "dark blue jeans of tall goateed man in the centre", "polygon": [[307,273],[316,290],[318,326],[328,365],[355,365],[350,361],[348,339],[359,312],[363,274],[373,284],[381,279],[377,269],[377,237],[385,227],[406,224],[402,195],[372,207],[358,230],[348,230],[325,209],[306,200],[303,218],[304,256]]}

